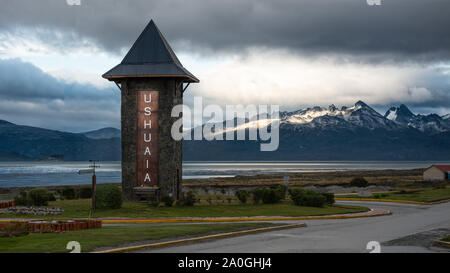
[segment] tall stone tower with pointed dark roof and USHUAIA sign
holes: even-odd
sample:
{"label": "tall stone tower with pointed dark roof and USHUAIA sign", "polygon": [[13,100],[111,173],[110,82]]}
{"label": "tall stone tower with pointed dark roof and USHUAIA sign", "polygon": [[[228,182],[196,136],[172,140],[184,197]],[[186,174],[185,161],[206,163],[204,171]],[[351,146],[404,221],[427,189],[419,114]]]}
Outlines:
{"label": "tall stone tower with pointed dark roof and USHUAIA sign", "polygon": [[[122,190],[128,200],[160,190],[181,193],[182,141],[171,136],[172,108],[183,103],[186,70],[155,23],[145,27],[120,64],[103,74],[122,93]],[[187,86],[186,86],[187,87]]]}

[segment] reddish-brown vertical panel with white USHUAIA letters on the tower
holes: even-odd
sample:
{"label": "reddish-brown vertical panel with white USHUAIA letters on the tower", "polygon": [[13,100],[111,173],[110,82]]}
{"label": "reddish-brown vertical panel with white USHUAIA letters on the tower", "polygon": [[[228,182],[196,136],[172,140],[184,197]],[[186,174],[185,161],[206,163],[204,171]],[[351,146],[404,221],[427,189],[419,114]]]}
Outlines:
{"label": "reddish-brown vertical panel with white USHUAIA letters on the tower", "polygon": [[137,186],[158,185],[158,94],[137,92]]}

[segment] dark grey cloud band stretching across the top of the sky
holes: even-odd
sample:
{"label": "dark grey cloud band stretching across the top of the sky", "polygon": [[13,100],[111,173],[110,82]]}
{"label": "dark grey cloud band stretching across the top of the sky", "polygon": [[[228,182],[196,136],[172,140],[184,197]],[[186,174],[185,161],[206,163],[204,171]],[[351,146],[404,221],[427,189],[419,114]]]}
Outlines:
{"label": "dark grey cloud band stretching across the top of the sky", "polygon": [[[450,59],[450,1],[382,0],[65,0],[2,3],[0,28],[69,33],[61,47],[94,41],[119,53],[150,18],[177,49],[239,51],[251,46],[301,54],[345,53],[374,58]],[[42,34],[45,38],[45,35]],[[48,42],[57,43],[57,39]]]}

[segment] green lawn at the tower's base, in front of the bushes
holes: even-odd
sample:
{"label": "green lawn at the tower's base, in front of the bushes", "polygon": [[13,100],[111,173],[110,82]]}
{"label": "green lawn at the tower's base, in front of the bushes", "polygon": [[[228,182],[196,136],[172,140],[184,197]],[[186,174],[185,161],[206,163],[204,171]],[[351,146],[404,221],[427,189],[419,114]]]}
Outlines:
{"label": "green lawn at the tower's base, in front of the bushes", "polygon": [[[49,206],[61,207],[64,213],[47,218],[88,217],[90,199],[50,202]],[[226,216],[310,216],[368,211],[368,208],[350,205],[334,205],[324,208],[299,207],[292,202],[279,204],[220,204],[195,205],[193,207],[151,207],[145,202],[124,202],[120,209],[97,210],[92,217],[226,217]],[[0,214],[0,218],[42,218],[36,215]]]}

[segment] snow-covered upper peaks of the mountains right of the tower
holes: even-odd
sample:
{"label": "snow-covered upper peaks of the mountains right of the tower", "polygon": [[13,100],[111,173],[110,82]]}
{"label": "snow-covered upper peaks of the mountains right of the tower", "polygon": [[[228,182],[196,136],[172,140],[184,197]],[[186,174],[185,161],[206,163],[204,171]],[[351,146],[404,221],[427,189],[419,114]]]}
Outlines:
{"label": "snow-covered upper peaks of the mountains right of the tower", "polygon": [[363,101],[356,102],[353,106],[335,105],[328,108],[314,106],[293,112],[280,112],[280,119],[246,120],[244,124],[216,131],[215,135],[226,131],[240,131],[249,128],[269,126],[274,121],[280,122],[281,129],[287,130],[356,130],[360,128],[374,130],[399,130],[414,128],[425,133],[437,133],[450,130],[450,115],[440,117],[436,114],[415,115],[404,104],[390,108],[383,116]]}

